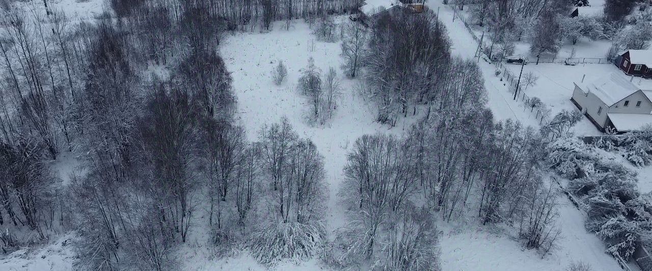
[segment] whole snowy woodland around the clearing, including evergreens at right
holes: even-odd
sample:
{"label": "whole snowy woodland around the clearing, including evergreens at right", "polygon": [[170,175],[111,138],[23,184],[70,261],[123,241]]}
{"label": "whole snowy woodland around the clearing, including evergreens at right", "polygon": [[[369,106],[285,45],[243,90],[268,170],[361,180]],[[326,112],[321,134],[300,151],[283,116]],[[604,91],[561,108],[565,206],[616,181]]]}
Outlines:
{"label": "whole snowy woodland around the clearing, including evergreens at right", "polygon": [[[518,20],[538,14],[535,25],[548,25],[558,4],[526,2],[482,1],[490,12],[475,16],[496,27],[496,42],[513,41]],[[207,227],[217,258],[246,250],[265,266],[318,259],[333,270],[441,270],[437,223],[471,218],[507,225],[523,248],[546,257],[562,237],[550,171],[587,195],[589,229],[612,244],[608,251],[629,258],[634,241],[652,231],[651,201],[629,189],[632,173],[588,150],[614,144],[569,139],[578,117],[567,111],[541,128],[494,119],[479,65],[452,54],[434,10],[335,21],[361,1],[107,3],[95,20],[76,22],[47,3],[43,12],[1,2],[5,254],[73,232],[75,269],[178,270],[175,250]],[[239,71],[228,70],[220,44],[233,33],[266,33],[274,21],[290,29],[292,20],[306,21],[319,41],[341,41],[333,57],[342,66],[322,72],[310,58],[298,71],[308,121],[324,126],[338,113],[351,91],[338,72],[359,81],[372,121],[393,128],[413,120],[404,135],[353,139],[339,187],[326,182],[327,154],[285,117],[253,138],[236,121]],[[534,44],[549,50],[546,41]],[[276,85],[297,72],[274,66]],[[57,176],[52,162],[72,154],[79,174]],[[344,227],[327,228],[329,190],[337,191]],[[632,212],[637,220],[629,221]]]}

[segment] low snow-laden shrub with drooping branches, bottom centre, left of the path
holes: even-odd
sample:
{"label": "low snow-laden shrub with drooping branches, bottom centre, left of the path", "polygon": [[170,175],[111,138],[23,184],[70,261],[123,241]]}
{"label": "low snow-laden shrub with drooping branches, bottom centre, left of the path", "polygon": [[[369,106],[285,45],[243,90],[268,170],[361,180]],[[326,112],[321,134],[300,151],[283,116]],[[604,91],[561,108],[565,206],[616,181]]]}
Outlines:
{"label": "low snow-laden shrub with drooping branches, bottom centre, left of the path", "polygon": [[324,244],[325,230],[319,222],[271,223],[252,234],[248,248],[263,264],[282,259],[305,261],[317,255]]}

